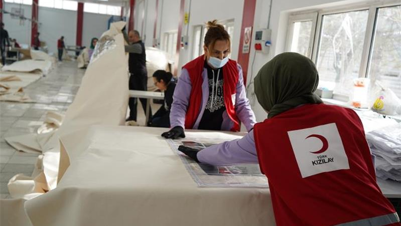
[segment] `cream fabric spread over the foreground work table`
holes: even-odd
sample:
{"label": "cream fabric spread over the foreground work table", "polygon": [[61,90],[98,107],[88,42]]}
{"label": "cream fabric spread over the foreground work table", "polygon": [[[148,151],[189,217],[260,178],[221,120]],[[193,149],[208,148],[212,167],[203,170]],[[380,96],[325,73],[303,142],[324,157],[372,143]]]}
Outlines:
{"label": "cream fabric spread over the foreground work table", "polygon": [[33,225],[275,225],[269,189],[197,187],[167,130],[92,126],[57,188],[26,201]]}

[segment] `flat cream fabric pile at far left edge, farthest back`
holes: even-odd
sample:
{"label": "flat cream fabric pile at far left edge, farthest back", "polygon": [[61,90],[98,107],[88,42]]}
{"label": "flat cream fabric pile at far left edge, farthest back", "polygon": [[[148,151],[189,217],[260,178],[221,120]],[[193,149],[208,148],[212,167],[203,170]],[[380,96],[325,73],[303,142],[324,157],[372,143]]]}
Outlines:
{"label": "flat cream fabric pile at far left edge, farthest back", "polygon": [[2,68],[3,71],[20,71],[31,72],[35,70],[42,71],[43,74],[48,74],[52,67],[52,62],[48,60],[22,60],[16,61]]}

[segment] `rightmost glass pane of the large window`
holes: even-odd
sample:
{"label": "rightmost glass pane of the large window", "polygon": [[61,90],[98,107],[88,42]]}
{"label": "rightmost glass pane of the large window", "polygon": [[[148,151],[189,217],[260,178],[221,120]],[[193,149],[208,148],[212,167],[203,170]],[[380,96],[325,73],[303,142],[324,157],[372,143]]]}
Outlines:
{"label": "rightmost glass pane of the large window", "polygon": [[378,9],[368,71],[401,97],[401,6]]}

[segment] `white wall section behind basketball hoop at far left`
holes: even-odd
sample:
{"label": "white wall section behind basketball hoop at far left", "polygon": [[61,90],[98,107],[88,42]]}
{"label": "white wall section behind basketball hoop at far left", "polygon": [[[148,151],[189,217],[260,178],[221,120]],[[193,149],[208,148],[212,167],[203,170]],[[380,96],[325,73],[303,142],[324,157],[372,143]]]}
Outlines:
{"label": "white wall section behind basketball hoop at far left", "polygon": [[[24,16],[31,18],[31,6],[19,5],[14,3],[4,3],[4,10],[11,12],[11,8],[22,8]],[[20,44],[31,44],[31,22],[12,19],[10,14],[3,14],[5,29],[9,32],[10,38],[17,39]]]}

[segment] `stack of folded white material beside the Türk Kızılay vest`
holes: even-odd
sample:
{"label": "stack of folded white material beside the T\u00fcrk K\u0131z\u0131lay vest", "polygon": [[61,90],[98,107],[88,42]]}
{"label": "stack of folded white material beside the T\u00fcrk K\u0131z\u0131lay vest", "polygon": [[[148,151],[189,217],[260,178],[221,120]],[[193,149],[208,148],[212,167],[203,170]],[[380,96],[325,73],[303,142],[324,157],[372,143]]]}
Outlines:
{"label": "stack of folded white material beside the T\u00fcrk K\u0131z\u0131lay vest", "polygon": [[401,123],[371,131],[366,139],[376,156],[376,176],[401,181]]}

